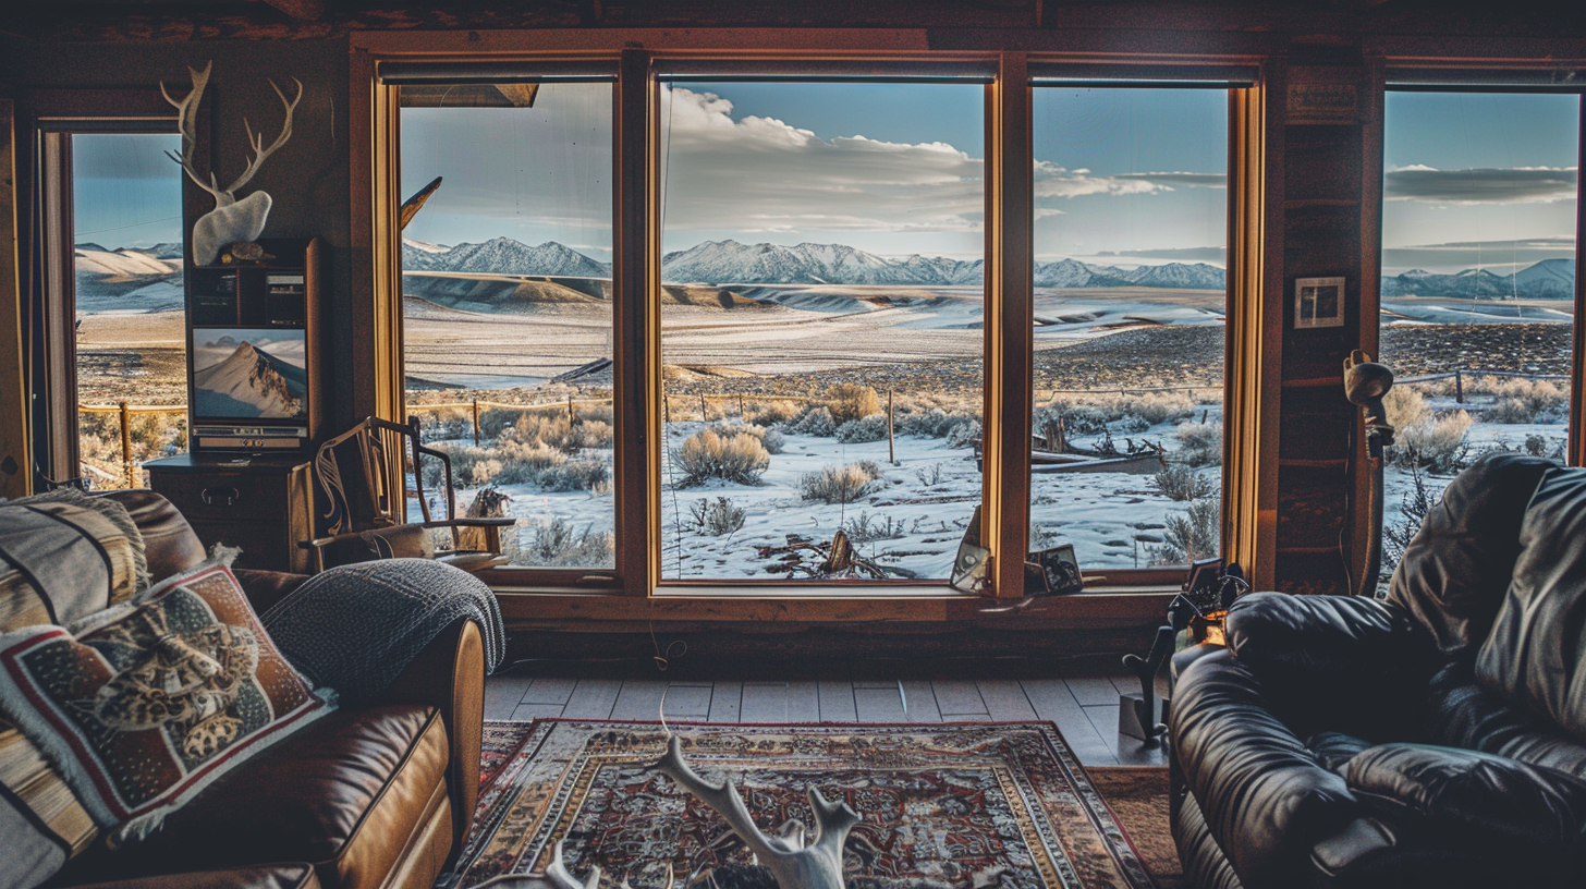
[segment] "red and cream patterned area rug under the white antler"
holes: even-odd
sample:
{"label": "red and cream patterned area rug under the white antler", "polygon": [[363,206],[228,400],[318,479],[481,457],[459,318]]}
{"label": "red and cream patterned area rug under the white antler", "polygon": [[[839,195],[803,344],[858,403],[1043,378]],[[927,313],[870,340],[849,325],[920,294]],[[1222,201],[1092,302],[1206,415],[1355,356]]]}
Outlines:
{"label": "red and cream patterned area rug under the white antler", "polygon": [[[672,725],[709,779],[734,776],[764,830],[812,824],[817,784],[863,816],[850,889],[1147,889],[1140,854],[1050,722],[945,725]],[[479,810],[438,887],[541,873],[557,840],[603,889],[684,884],[749,852],[711,808],[647,765],[653,722],[487,722]]]}

